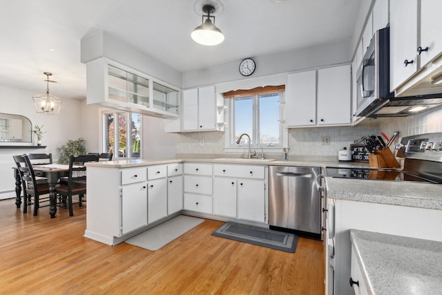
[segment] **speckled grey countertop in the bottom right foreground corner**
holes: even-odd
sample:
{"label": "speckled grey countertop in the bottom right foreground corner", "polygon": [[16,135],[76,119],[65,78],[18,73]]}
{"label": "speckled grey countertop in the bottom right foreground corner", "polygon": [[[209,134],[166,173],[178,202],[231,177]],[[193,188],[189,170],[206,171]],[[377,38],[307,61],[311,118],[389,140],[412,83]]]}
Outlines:
{"label": "speckled grey countertop in the bottom right foreground corner", "polygon": [[369,294],[441,294],[442,242],[350,229]]}

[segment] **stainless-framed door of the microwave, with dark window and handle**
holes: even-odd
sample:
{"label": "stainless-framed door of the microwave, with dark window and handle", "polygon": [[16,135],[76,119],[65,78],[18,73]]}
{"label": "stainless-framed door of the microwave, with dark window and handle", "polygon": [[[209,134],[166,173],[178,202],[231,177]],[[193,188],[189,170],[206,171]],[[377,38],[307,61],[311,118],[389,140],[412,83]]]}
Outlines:
{"label": "stainless-framed door of the microwave, with dark window and handle", "polygon": [[356,115],[359,115],[376,99],[376,58],[373,41],[374,38],[356,72],[356,77],[358,77]]}

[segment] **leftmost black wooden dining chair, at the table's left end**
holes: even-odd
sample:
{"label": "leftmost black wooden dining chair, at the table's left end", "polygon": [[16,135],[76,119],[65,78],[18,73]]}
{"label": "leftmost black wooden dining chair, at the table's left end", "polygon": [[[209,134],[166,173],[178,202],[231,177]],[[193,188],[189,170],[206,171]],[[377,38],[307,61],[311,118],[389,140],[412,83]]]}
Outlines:
{"label": "leftmost black wooden dining chair, at the table's left end", "polygon": [[[28,213],[28,205],[34,202],[34,216],[38,215],[40,207],[49,206],[49,196],[40,198],[42,195],[49,193],[48,182],[38,183],[34,169],[27,155],[13,155],[15,164],[21,178],[23,187],[23,213]],[[48,202],[45,206],[41,206],[41,202]]]}

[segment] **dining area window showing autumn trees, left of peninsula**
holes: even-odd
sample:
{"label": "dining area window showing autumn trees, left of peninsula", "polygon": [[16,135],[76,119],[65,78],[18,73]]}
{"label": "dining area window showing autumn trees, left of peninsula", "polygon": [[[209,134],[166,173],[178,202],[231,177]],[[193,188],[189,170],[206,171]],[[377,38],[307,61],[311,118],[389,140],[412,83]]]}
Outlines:
{"label": "dining area window showing autumn trees, left of peninsula", "polygon": [[104,113],[103,151],[113,153],[114,158],[141,158],[141,117],[128,112]]}

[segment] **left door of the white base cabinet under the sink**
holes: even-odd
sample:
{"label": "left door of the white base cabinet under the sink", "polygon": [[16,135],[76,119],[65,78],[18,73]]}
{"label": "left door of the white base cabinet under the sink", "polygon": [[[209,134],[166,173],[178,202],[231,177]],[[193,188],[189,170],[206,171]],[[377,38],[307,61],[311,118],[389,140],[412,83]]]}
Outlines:
{"label": "left door of the white base cabinet under the sink", "polygon": [[236,180],[213,179],[213,213],[236,218]]}

